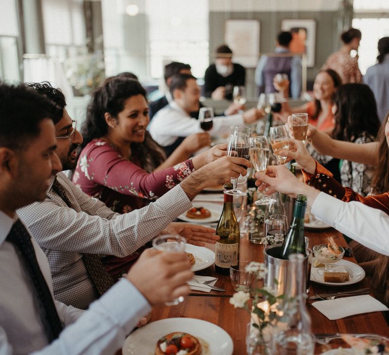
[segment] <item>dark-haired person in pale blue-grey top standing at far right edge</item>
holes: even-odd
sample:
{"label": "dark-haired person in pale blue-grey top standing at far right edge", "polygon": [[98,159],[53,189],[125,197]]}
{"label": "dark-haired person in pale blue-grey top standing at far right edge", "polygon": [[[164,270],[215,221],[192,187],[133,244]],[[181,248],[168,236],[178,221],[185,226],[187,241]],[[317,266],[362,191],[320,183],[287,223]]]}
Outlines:
{"label": "dark-haired person in pale blue-grey top standing at far right edge", "polygon": [[363,82],[373,91],[378,117],[382,122],[389,111],[389,37],[378,41],[378,52],[378,63],[366,70]]}

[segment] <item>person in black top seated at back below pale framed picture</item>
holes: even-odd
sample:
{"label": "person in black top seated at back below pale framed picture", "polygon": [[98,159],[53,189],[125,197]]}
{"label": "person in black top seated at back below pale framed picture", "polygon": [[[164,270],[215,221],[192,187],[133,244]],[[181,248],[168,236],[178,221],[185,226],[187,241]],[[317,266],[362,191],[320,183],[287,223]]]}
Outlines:
{"label": "person in black top seated at back below pale framed picture", "polygon": [[214,100],[232,99],[232,88],[244,86],[246,69],[232,63],[232,51],[227,45],[216,49],[215,64],[211,64],[204,75],[204,96]]}

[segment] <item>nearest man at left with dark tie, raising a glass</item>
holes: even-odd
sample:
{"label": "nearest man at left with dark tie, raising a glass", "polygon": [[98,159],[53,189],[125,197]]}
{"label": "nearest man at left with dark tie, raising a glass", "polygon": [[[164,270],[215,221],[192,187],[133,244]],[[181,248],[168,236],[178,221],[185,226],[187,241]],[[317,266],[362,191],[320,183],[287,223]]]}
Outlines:
{"label": "nearest man at left with dark tie, raising a glass", "polygon": [[88,311],[54,301],[45,254],[15,211],[43,200],[62,168],[50,119],[61,115],[36,92],[0,84],[1,354],[114,353],[150,306],[189,293],[186,255],[149,250]]}

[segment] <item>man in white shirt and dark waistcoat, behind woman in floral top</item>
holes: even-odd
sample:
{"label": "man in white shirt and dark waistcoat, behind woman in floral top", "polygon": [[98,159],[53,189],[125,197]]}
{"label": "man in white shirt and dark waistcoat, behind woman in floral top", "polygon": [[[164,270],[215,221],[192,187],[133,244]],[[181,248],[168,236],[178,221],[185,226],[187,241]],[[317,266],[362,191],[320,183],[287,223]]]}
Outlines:
{"label": "man in white shirt and dark waistcoat, behind woman in floral top", "polygon": [[[200,122],[190,117],[199,110],[200,88],[196,78],[188,74],[176,74],[170,83],[173,101],[161,109],[148,126],[152,138],[170,155],[184,137],[203,132]],[[242,126],[257,121],[263,116],[258,109],[250,109],[244,114],[222,116],[213,119],[209,134],[228,133],[234,126]],[[232,127],[232,128],[231,128]]]}

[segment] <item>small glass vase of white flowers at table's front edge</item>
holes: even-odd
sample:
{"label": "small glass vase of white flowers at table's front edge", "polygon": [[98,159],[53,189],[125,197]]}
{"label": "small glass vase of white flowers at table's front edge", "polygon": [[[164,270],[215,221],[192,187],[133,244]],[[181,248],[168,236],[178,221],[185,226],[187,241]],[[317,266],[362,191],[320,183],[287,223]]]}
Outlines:
{"label": "small glass vase of white flowers at table's front edge", "polygon": [[[255,274],[257,282],[264,279],[267,269],[263,263],[251,262],[246,271]],[[254,287],[250,292],[237,292],[229,300],[235,308],[245,309],[251,317],[247,325],[247,353],[268,354],[273,327],[282,316],[281,300],[275,290]]]}

